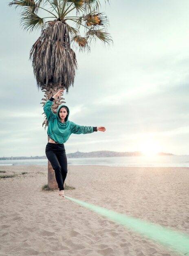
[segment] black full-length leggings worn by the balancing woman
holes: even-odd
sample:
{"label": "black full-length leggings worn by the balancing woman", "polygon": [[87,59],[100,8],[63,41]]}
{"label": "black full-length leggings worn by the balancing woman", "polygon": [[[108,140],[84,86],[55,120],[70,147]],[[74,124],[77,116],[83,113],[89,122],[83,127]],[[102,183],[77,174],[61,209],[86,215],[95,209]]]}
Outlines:
{"label": "black full-length leggings worn by the balancing woman", "polygon": [[48,142],[45,149],[46,157],[51,162],[59,190],[64,190],[64,181],[68,172],[68,164],[64,144]]}

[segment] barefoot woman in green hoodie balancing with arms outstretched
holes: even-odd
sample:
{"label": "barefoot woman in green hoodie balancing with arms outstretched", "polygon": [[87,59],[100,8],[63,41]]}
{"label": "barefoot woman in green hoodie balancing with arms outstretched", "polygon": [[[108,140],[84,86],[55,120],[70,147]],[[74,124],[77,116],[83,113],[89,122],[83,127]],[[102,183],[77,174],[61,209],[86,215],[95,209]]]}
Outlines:
{"label": "barefoot woman in green hoodie balancing with arms outstretched", "polygon": [[51,110],[51,106],[53,100],[56,97],[61,96],[62,92],[64,92],[64,90],[60,90],[51,97],[51,99],[46,101],[43,109],[48,120],[47,134],[50,137],[49,142],[46,145],[45,153],[55,171],[59,195],[64,196],[64,181],[68,172],[64,143],[69,139],[72,133],[86,134],[97,132],[97,130],[105,132],[105,127],[80,126],[72,121],[68,121],[70,110],[63,104],[59,105],[57,114],[55,115]]}

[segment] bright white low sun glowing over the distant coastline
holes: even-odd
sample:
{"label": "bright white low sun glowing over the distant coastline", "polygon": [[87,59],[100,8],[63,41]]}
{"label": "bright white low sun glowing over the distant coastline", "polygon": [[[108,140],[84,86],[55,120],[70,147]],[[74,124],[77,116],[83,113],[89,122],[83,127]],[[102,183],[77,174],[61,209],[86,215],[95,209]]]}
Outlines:
{"label": "bright white low sun glowing over the distant coastline", "polygon": [[146,137],[143,139],[143,141],[141,141],[140,148],[142,153],[148,156],[154,156],[160,152],[160,145],[153,137]]}

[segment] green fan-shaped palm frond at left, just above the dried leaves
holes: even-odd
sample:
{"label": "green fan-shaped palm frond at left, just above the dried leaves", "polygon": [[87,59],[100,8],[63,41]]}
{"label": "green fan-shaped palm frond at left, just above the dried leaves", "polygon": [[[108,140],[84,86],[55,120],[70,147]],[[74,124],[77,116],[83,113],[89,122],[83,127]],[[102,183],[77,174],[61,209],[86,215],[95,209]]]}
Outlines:
{"label": "green fan-shaped palm frond at left, just above the dried leaves", "polygon": [[37,14],[32,12],[22,13],[21,25],[24,30],[29,30],[30,32],[34,29],[42,29],[45,25],[44,18],[40,18]]}

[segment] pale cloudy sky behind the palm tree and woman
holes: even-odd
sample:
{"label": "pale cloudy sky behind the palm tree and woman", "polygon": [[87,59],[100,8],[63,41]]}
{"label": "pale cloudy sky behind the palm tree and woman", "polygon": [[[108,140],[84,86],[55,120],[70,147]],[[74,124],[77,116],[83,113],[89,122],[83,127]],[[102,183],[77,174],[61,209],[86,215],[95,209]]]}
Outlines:
{"label": "pale cloudy sky behind the palm tree and woman", "polygon": [[[70,121],[105,126],[71,135],[66,153],[111,150],[189,154],[188,0],[112,0],[114,43],[77,50],[75,83],[64,94]],[[1,3],[0,157],[43,156],[47,129],[29,52],[40,31],[20,26],[19,9]]]}

